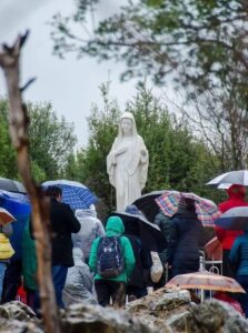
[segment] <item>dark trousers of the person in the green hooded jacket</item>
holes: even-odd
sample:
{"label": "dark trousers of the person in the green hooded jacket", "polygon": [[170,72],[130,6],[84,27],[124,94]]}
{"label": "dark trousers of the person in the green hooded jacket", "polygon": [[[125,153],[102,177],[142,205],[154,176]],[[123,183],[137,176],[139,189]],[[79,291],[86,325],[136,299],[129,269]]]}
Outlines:
{"label": "dark trousers of the person in the green hooded jacket", "polygon": [[126,283],[110,280],[96,280],[95,287],[98,303],[101,306],[110,304],[112,299],[113,306],[121,307],[126,302]]}

